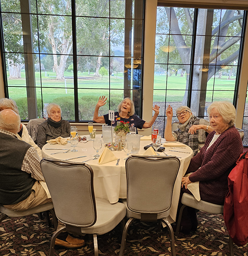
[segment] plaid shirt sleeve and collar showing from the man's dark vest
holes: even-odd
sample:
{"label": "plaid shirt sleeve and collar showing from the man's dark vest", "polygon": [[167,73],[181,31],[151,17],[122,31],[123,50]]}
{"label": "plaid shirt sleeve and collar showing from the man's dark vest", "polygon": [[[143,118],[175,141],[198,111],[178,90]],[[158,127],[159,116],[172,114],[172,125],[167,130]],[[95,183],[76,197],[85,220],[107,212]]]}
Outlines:
{"label": "plaid shirt sleeve and collar showing from the man's dark vest", "polygon": [[[10,131],[0,129],[0,132],[16,138],[15,134]],[[40,157],[38,156],[37,151],[33,147],[30,147],[24,156],[22,162],[22,171],[30,173],[31,177],[37,181],[44,180],[43,174],[40,169]]]}

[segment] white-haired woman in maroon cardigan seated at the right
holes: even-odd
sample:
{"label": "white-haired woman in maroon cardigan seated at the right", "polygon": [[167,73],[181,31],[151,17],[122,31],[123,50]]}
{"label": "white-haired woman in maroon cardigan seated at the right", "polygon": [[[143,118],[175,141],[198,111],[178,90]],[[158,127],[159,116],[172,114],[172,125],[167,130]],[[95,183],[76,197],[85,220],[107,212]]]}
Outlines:
{"label": "white-haired woman in maroon cardigan seated at the right", "polygon": [[[188,175],[182,179],[181,196],[185,192],[195,194],[190,184],[199,181],[201,200],[223,205],[228,191],[227,177],[243,152],[243,145],[234,126],[236,110],[232,103],[213,102],[208,107],[208,116],[214,131],[208,135],[200,152],[191,159],[186,171]],[[185,233],[197,229],[195,209],[185,208],[181,225]]]}

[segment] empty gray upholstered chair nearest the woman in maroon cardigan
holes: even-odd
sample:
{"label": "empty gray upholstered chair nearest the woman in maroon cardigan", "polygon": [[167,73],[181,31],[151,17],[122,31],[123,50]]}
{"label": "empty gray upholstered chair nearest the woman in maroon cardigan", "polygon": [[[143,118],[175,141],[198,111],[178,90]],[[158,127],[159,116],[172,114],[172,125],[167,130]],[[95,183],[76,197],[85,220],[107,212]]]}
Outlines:
{"label": "empty gray upholstered chair nearest the woman in maroon cardigan", "polygon": [[127,230],[134,219],[143,222],[163,222],[169,229],[171,254],[175,255],[174,232],[167,221],[171,198],[180,160],[173,156],[129,156],[126,160],[127,173],[127,218],[120,256],[126,246]]}

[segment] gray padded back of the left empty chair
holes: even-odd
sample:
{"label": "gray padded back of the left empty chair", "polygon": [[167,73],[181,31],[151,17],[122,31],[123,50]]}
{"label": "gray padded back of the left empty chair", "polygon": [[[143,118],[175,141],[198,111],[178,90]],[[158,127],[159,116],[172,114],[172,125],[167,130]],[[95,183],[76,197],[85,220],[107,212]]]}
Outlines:
{"label": "gray padded back of the left empty chair", "polygon": [[87,228],[96,222],[93,170],[86,163],[44,158],[40,162],[57,218]]}

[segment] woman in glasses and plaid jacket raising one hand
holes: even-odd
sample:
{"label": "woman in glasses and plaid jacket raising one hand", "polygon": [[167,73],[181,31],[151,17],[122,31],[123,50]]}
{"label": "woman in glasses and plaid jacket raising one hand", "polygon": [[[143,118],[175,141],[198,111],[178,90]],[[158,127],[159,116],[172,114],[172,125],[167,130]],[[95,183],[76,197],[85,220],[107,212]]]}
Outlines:
{"label": "woman in glasses and plaid jacket raising one hand", "polygon": [[167,122],[164,130],[164,138],[167,141],[177,140],[192,148],[194,155],[204,146],[206,132],[210,133],[213,129],[205,119],[199,119],[192,115],[192,111],[187,106],[180,106],[176,109],[176,114],[180,124],[176,131],[171,131],[173,116],[172,107],[166,109]]}

